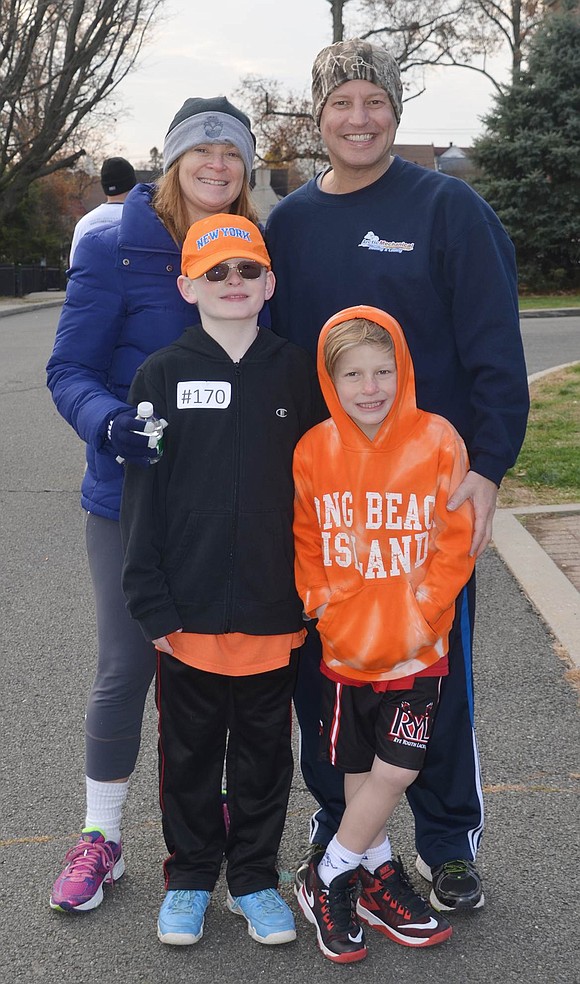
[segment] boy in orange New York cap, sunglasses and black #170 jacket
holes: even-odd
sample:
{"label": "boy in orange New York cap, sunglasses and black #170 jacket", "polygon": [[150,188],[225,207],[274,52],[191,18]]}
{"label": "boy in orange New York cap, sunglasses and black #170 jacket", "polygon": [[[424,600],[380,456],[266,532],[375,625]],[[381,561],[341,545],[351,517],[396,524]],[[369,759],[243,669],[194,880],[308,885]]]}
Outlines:
{"label": "boy in orange New York cap, sunglasses and black #170 jacket", "polygon": [[200,939],[225,853],[228,908],[254,940],[287,943],[296,930],[277,892],[276,855],[306,634],[294,585],[292,456],[325,410],[308,354],[258,328],[275,281],[255,225],[227,214],[196,222],[182,273],[180,291],[197,303],[201,325],[137,372],[130,402],[152,402],[168,426],[154,468],[127,466],[121,507],[123,588],[158,650],[169,857],[157,934],[177,945]]}

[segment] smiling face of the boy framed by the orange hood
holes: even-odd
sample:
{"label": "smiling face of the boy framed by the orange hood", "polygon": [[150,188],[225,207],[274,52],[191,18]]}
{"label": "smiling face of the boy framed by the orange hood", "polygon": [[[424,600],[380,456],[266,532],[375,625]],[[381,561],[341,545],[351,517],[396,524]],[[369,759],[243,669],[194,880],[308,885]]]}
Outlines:
{"label": "smiling face of the boy framed by the orange hood", "polygon": [[394,351],[353,345],[336,360],[333,383],[343,410],[372,441],[397,395]]}

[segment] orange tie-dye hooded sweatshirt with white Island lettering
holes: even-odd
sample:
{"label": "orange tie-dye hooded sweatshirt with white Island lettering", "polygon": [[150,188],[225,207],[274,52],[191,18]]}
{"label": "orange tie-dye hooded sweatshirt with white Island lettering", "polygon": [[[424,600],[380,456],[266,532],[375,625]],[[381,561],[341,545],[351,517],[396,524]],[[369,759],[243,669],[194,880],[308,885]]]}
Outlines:
{"label": "orange tie-dye hooded sweatshirt with white Island lettering", "polygon": [[[343,410],[322,355],[335,325],[368,318],[391,335],[393,405],[371,441]],[[469,580],[470,502],[447,501],[468,470],[465,445],[443,417],[419,410],[401,326],[384,311],[347,308],[324,325],[318,374],[331,417],[294,455],[296,583],[318,622],[324,662],[371,683],[420,673],[448,651],[455,599]]]}

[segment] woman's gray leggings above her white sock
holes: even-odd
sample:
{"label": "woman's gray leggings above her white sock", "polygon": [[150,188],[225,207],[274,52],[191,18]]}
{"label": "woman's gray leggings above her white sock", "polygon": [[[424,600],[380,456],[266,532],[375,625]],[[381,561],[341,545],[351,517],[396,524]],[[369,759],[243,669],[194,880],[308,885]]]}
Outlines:
{"label": "woman's gray leggings above her white sock", "polygon": [[86,716],[86,773],[98,782],[111,782],[130,776],[135,768],[156,654],[125,608],[119,524],[89,513],[86,538],[98,637]]}

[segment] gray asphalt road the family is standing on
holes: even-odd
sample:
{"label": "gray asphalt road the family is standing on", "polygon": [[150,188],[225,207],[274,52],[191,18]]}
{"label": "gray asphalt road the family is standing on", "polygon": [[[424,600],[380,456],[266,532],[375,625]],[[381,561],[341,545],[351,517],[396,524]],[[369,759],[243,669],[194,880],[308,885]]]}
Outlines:
{"label": "gray asphalt road the family is standing on", "polygon": [[[0,979],[319,984],[352,972],[361,984],[577,984],[577,694],[548,632],[493,551],[480,564],[476,640],[487,904],[454,918],[449,943],[413,953],[371,934],[368,959],[353,971],[336,969],[300,917],[296,943],[254,943],[225,910],[220,885],[204,939],[191,948],[162,947],[154,931],[164,846],[152,702],[126,818],[127,874],[92,914],[49,910],[50,884],[82,818],[81,735],[94,631],[78,506],[82,449],[44,386],[57,316],[29,312],[0,323]],[[540,363],[541,332],[526,324],[524,333],[528,359]],[[552,338],[552,364],[580,358],[567,345]],[[289,873],[311,805],[297,776],[280,855],[290,901]],[[392,832],[408,863],[410,831],[401,808]]]}

